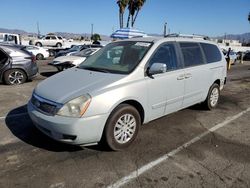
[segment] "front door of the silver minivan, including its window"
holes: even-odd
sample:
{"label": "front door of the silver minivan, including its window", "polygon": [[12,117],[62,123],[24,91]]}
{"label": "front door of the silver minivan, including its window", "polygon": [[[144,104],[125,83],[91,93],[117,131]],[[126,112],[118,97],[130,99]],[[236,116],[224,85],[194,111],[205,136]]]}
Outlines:
{"label": "front door of the silver minivan, including its window", "polygon": [[148,67],[154,63],[166,64],[167,72],[146,78],[150,120],[182,107],[185,82],[184,70],[180,69],[174,43],[165,43],[156,49]]}

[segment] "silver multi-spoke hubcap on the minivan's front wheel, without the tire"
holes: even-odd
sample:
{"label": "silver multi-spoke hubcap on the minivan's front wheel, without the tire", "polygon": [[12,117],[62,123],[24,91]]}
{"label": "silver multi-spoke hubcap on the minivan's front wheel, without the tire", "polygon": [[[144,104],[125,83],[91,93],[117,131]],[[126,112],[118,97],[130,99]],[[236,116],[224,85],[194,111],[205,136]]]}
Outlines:
{"label": "silver multi-spoke hubcap on the minivan's front wheel, without the tire", "polygon": [[132,114],[122,115],[114,127],[114,137],[119,144],[125,144],[131,140],[136,130],[136,120]]}

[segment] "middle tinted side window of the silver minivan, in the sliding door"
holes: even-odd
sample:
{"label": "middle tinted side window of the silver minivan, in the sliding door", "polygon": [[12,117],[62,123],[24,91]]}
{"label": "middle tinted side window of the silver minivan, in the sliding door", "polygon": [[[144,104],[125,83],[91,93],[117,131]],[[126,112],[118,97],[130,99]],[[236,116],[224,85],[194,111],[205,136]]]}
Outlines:
{"label": "middle tinted side window of the silver minivan, in the sliding door", "polygon": [[198,43],[180,43],[180,47],[183,54],[185,67],[204,64],[201,48]]}

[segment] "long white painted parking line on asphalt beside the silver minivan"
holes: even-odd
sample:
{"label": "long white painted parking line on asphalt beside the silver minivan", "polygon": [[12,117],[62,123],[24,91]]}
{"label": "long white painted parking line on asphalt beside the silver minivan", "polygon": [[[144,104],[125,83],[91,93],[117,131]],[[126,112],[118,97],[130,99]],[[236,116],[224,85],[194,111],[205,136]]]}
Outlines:
{"label": "long white painted parking line on asphalt beside the silver minivan", "polygon": [[211,132],[214,132],[226,125],[228,125],[229,123],[231,123],[232,121],[238,119],[239,117],[241,117],[242,115],[244,115],[245,113],[249,112],[250,108],[232,116],[232,117],[228,117],[226,118],[225,121],[223,121],[222,123],[219,123],[217,125],[215,125],[214,127],[208,129],[207,131],[205,131],[204,133],[198,135],[197,137],[193,138],[192,140],[184,143],[183,145],[179,146],[178,148],[176,148],[175,150],[170,151],[169,153],[163,155],[162,157],[140,167],[139,169],[131,172],[129,175],[119,179],[117,182],[111,184],[108,186],[108,188],[117,188],[117,187],[121,187],[123,185],[125,185],[126,183],[132,181],[133,179],[139,177],[140,175],[142,175],[143,173],[147,172],[148,170],[152,169],[153,167],[155,167],[156,165],[159,165],[160,163],[166,161],[167,159],[169,159],[170,157],[174,156],[175,154],[179,153],[180,151],[182,151],[183,149],[187,148],[188,146],[190,146],[191,144],[201,140],[203,137],[205,137],[206,135],[208,135]]}

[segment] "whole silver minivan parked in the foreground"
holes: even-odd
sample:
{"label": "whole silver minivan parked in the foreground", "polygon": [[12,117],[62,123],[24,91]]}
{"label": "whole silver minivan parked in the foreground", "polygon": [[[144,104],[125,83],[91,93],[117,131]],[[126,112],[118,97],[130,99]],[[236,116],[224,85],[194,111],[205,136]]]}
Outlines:
{"label": "whole silver minivan parked in the foreground", "polygon": [[43,133],[79,145],[129,146],[141,124],[188,106],[217,106],[226,82],[218,46],[186,37],[108,44],[78,67],[37,85],[29,115]]}

